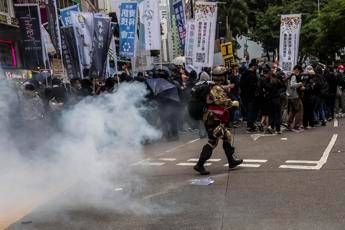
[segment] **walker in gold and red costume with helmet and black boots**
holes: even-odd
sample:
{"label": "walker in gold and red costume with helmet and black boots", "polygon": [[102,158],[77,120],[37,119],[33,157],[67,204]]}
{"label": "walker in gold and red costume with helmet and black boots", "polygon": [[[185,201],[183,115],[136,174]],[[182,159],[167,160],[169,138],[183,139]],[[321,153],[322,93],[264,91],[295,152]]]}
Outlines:
{"label": "walker in gold and red costume with helmet and black boots", "polygon": [[215,84],[211,87],[207,98],[207,111],[204,113],[203,121],[208,135],[208,143],[203,146],[199,161],[194,170],[201,175],[209,174],[204,168],[205,162],[210,159],[213,149],[218,145],[219,139],[223,140],[223,149],[229,168],[240,165],[243,160],[234,158],[235,148],[231,145],[232,134],[229,124],[229,109],[238,107],[238,101],[232,101],[224,88],[221,86],[226,81],[227,69],[224,66],[217,66],[213,69],[212,77]]}

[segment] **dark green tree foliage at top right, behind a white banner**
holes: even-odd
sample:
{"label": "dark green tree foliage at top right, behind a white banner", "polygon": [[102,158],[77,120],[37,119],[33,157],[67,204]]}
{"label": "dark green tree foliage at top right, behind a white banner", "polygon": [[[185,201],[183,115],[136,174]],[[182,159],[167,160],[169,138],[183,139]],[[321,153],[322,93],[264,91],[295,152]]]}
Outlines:
{"label": "dark green tree foliage at top right, behind a white banner", "polygon": [[[300,56],[332,59],[345,47],[345,0],[248,0],[249,36],[268,51],[279,47],[280,15],[302,13]],[[253,16],[254,15],[254,16]]]}

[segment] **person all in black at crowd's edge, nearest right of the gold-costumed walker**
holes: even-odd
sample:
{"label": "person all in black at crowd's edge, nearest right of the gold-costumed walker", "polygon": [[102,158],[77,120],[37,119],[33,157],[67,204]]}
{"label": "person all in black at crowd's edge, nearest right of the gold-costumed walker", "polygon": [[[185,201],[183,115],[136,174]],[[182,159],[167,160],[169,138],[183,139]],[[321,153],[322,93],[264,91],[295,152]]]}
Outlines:
{"label": "person all in black at crowd's edge, nearest right of the gold-costumed walker", "polygon": [[258,86],[258,77],[256,74],[258,64],[253,59],[249,64],[249,69],[245,71],[240,80],[241,99],[247,110],[247,130],[255,132],[255,121],[257,119],[256,92]]}

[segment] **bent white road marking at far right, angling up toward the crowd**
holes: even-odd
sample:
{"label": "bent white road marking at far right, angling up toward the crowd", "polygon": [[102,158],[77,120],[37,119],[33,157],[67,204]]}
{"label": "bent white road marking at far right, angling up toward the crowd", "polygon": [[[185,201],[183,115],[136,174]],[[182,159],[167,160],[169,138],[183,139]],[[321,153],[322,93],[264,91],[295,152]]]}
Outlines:
{"label": "bent white road marking at far right, angling up toward the crowd", "polygon": [[297,160],[288,160],[285,163],[295,163],[295,164],[316,164],[314,166],[308,166],[308,165],[281,165],[279,168],[284,169],[307,169],[307,170],[320,170],[326,163],[329,157],[329,154],[332,151],[332,148],[335,145],[335,142],[337,141],[338,134],[333,134],[329,144],[327,145],[325,151],[322,154],[322,157],[319,161],[297,161]]}

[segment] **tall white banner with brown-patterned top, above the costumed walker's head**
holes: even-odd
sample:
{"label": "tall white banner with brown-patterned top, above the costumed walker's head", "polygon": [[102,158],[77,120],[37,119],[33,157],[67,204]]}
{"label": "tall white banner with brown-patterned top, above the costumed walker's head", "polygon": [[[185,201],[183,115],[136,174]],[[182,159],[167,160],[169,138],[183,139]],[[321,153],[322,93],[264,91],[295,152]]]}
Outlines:
{"label": "tall white banner with brown-patterned top, above the costumed walker's head", "polygon": [[195,3],[195,33],[193,65],[199,69],[213,66],[217,24],[217,3]]}

